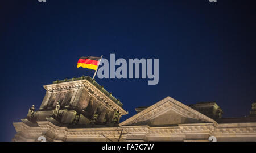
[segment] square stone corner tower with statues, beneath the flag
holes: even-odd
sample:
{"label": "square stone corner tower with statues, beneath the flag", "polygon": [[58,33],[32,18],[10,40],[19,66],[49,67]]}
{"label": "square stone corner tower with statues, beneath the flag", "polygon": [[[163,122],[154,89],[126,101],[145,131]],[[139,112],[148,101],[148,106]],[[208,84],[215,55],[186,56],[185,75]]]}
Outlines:
{"label": "square stone corner tower with statues, beneath the flag", "polygon": [[[127,114],[123,104],[89,76],[57,80],[43,87],[46,94],[39,110],[33,105],[22,119],[30,127],[40,127],[38,123],[43,121],[67,128],[117,127],[122,115]],[[36,138],[24,132],[13,138],[14,141],[27,139]]]}

